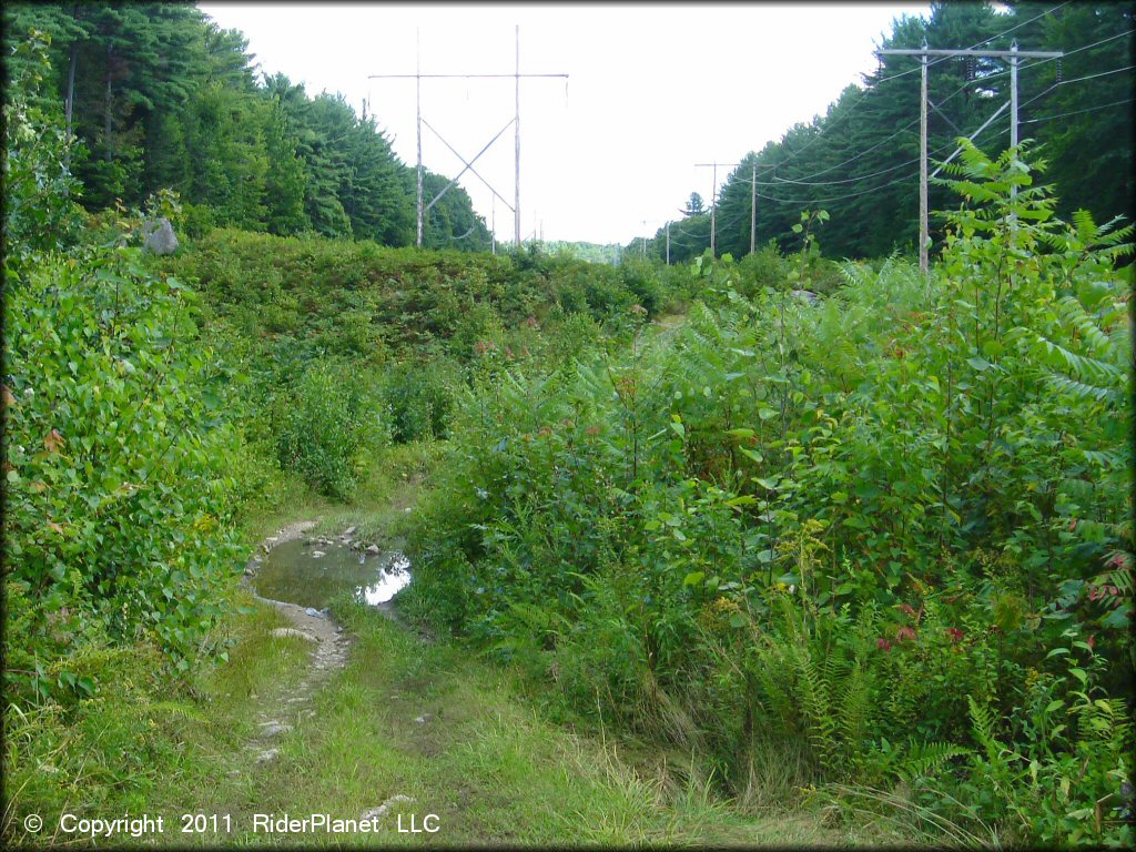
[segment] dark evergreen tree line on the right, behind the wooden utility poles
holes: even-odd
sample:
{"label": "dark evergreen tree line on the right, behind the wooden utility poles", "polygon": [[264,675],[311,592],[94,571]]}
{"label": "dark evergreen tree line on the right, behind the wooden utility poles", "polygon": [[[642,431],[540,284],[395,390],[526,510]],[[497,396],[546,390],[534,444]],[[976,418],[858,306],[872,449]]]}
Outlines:
{"label": "dark evergreen tree line on the right, behind the wooden utility poles", "polygon": [[[1099,220],[1131,219],[1133,12],[1130,2],[1008,2],[1003,11],[983,2],[935,2],[924,17],[902,16],[880,47],[1063,51],[1060,60],[1020,60],[1020,139],[1049,164],[1044,179],[1061,199],[1062,216],[1084,208]],[[929,59],[928,153],[930,170],[957,149],[960,136],[978,130],[1010,99],[1003,59]],[[718,193],[717,251],[741,257],[750,250],[753,178],[757,183],[757,244],[777,241],[796,249],[793,225],[801,211],[824,208],[832,219],[819,234],[832,257],[882,257],[918,242],[919,59],[882,57],[850,84],[824,116],[791,127],[778,142],[750,151]],[[760,103],[760,94],[751,93]],[[751,103],[751,106],[753,106]],[[1009,110],[975,139],[989,151],[1010,144]],[[945,209],[950,191],[930,185],[929,208]],[[932,222],[938,242],[943,222]],[[709,203],[670,223],[670,260],[710,247]],[[648,251],[667,257],[667,226]],[[638,242],[633,244],[638,247]]]}

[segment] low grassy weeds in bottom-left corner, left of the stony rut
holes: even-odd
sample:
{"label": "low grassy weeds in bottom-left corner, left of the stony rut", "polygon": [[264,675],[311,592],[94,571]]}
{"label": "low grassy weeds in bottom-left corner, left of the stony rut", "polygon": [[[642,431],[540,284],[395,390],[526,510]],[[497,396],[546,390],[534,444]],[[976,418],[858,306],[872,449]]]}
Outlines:
{"label": "low grassy weeds in bottom-left corner, left of the stony rut", "polygon": [[[270,636],[286,624],[279,612],[247,593],[235,602],[234,615],[215,627],[231,658],[197,666],[189,679],[164,675],[161,651],[152,644],[89,645],[74,665],[99,684],[94,696],[69,707],[6,704],[6,846],[74,843],[59,828],[62,813],[168,811],[167,837],[176,835],[172,815],[200,797],[187,799],[187,791],[239,759],[256,729],[260,698],[287,688],[307,665],[302,641]],[[39,833],[24,824],[33,813],[43,820]]]}

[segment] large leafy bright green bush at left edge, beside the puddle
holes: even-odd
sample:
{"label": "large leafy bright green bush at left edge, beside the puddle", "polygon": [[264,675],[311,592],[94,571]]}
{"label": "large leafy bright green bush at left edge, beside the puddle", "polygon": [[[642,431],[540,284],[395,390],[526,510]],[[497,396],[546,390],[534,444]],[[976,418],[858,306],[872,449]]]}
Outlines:
{"label": "large leafy bright green bush at left edge, beside the puddle", "polygon": [[239,566],[228,374],[198,341],[192,291],[136,252],[44,257],[7,287],[10,659],[33,692],[51,688],[48,660],[102,634],[153,638],[187,668]]}

